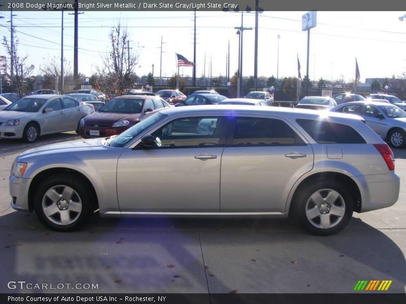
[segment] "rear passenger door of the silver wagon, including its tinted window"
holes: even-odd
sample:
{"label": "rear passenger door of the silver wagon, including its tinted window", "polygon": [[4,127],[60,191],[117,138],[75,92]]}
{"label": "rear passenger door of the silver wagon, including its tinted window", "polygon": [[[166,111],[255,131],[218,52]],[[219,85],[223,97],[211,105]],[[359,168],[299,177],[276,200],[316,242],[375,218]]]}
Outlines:
{"label": "rear passenger door of the silver wagon, including its tinted window", "polygon": [[313,168],[313,149],[282,120],[240,119],[221,159],[220,209],[283,212],[294,182]]}

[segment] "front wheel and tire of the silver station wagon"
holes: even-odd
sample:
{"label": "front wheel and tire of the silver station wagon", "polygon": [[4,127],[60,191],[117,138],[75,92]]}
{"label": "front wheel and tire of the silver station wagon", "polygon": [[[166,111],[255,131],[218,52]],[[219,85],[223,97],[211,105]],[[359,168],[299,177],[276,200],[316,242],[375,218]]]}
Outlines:
{"label": "front wheel and tire of the silver station wagon", "polygon": [[94,198],[87,181],[74,174],[48,177],[40,184],[34,197],[38,218],[54,231],[77,230],[86,221],[93,206]]}

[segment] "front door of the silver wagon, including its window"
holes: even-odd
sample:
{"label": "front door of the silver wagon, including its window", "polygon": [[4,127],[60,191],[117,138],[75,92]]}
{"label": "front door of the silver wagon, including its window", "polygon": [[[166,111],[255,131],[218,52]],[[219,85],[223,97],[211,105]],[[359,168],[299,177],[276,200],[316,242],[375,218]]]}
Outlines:
{"label": "front door of the silver wagon, including its window", "polygon": [[182,117],[151,133],[159,145],[128,148],[117,167],[121,211],[218,212],[225,130],[223,118]]}

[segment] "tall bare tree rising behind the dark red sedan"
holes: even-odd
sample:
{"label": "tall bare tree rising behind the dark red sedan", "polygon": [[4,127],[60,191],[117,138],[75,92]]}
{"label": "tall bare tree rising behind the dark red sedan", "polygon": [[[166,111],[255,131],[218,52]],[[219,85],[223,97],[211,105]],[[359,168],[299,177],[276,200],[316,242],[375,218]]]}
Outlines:
{"label": "tall bare tree rising behind the dark red sedan", "polygon": [[129,34],[126,27],[119,22],[109,34],[110,50],[102,56],[103,68],[100,74],[106,75],[107,93],[121,95],[133,85],[137,77],[135,68],[138,64],[137,47],[129,48]]}

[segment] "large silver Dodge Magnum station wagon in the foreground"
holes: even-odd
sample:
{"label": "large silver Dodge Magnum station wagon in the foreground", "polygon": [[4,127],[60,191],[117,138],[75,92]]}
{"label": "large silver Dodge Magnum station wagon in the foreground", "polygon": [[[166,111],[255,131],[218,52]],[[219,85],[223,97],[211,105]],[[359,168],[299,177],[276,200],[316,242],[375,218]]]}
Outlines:
{"label": "large silver Dodge Magnum station wagon in the foreground", "polygon": [[50,229],[77,229],[93,211],[152,215],[291,215],[315,235],[353,211],[399,196],[389,146],[360,117],[280,107],[162,110],[118,136],[20,154],[11,206]]}

